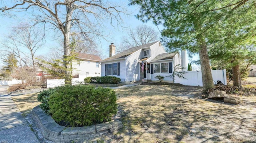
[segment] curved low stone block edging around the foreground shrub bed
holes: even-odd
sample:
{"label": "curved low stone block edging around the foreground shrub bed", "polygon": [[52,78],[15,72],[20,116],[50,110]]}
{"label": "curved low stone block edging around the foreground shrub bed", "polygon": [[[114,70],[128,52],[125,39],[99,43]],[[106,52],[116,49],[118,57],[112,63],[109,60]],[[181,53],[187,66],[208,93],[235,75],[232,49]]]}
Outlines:
{"label": "curved low stone block edging around the foreground shrub bed", "polygon": [[61,143],[98,137],[124,127],[122,122],[118,120],[84,127],[64,127],[56,123],[50,115],[46,115],[39,105],[33,108],[32,115],[38,121],[46,139]]}

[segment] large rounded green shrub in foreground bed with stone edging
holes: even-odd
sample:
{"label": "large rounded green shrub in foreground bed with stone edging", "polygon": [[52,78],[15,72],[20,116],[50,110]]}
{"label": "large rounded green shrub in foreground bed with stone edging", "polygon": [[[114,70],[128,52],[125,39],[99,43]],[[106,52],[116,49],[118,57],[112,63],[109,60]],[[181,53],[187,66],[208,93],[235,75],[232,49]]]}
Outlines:
{"label": "large rounded green shrub in foreground bed with stone edging", "polygon": [[110,121],[117,112],[116,95],[110,88],[61,86],[49,100],[50,113],[70,126],[85,126]]}

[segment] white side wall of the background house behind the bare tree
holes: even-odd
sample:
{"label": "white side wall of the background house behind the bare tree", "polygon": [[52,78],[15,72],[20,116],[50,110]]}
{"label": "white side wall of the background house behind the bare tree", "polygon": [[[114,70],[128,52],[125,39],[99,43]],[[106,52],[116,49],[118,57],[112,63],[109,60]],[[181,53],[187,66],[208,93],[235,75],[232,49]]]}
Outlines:
{"label": "white side wall of the background house behind the bare tree", "polygon": [[76,74],[86,74],[86,72],[89,72],[89,74],[95,74],[97,73],[98,76],[100,76],[99,73],[101,73],[101,65],[99,64],[99,67],[96,67],[96,63],[100,63],[100,62],[96,62],[96,61],[90,61],[90,63],[88,63],[88,61],[79,61],[80,65],[78,64],[78,61],[73,61],[72,62],[72,67],[75,68],[73,69],[73,75]]}

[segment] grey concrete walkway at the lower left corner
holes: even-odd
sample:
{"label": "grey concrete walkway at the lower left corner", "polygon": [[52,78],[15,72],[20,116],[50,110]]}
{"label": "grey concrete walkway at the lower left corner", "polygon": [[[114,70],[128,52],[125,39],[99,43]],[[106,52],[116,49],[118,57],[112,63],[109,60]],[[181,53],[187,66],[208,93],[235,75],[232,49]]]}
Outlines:
{"label": "grey concrete walkway at the lower left corner", "polygon": [[0,143],[40,143],[6,91],[0,86]]}

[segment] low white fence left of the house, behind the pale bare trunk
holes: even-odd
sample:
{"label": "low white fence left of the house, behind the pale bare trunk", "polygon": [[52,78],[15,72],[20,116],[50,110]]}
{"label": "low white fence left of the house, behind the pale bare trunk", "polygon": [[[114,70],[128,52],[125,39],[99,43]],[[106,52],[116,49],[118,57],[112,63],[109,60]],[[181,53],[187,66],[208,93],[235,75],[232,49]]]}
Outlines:
{"label": "low white fence left of the house, behind the pale bare trunk", "polygon": [[[95,77],[98,74],[79,74],[78,78],[72,78],[72,85],[79,84],[80,82],[84,82],[84,78],[86,77]],[[47,88],[53,88],[55,86],[61,86],[65,84],[65,79],[48,79],[47,80]]]}

